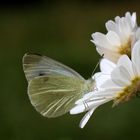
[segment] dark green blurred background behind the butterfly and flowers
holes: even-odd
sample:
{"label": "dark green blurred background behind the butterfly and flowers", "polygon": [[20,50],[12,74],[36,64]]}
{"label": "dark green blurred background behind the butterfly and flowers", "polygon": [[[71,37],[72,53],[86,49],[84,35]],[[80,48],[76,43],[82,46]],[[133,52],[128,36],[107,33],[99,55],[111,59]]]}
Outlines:
{"label": "dark green blurred background behind the butterfly and flowers", "polygon": [[84,129],[84,114],[47,119],[31,106],[22,69],[26,52],[56,59],[89,78],[99,60],[90,42],[106,32],[105,22],[138,1],[22,1],[0,3],[0,140],[131,140],[139,139],[140,99],[112,109],[99,107]]}

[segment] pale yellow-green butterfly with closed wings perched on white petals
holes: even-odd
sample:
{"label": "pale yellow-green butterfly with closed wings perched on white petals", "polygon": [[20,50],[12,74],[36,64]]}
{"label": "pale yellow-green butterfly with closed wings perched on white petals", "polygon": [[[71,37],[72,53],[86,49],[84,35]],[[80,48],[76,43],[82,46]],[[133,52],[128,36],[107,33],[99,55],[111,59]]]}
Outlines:
{"label": "pale yellow-green butterfly with closed wings perched on white petals", "polygon": [[69,112],[78,99],[95,87],[94,79],[85,80],[68,66],[39,54],[25,54],[23,70],[31,104],[48,118]]}

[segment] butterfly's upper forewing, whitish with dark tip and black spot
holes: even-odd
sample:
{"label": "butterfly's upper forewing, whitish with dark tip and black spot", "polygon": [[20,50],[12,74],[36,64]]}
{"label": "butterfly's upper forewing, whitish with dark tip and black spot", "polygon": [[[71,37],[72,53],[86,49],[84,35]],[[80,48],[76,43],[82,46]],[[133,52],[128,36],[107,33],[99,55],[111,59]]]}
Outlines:
{"label": "butterfly's upper forewing, whitish with dark tip and black spot", "polygon": [[37,54],[25,54],[23,57],[23,70],[28,80],[38,76],[57,76],[65,75],[68,77],[78,77],[84,79],[80,74],[71,68],[57,62],[49,57]]}

